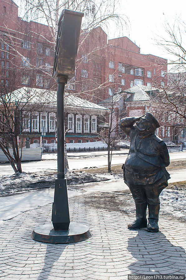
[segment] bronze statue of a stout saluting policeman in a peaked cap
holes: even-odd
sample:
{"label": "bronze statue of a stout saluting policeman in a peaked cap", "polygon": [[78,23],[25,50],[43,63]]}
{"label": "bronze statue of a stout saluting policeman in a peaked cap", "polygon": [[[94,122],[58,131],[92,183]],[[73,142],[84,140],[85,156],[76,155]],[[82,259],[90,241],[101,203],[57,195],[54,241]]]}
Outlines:
{"label": "bronze statue of a stout saluting policeman in a peaked cap", "polygon": [[[135,123],[136,126],[133,126]],[[155,135],[155,130],[160,125],[152,114],[146,113],[140,117],[123,118],[120,127],[131,139],[129,154],[122,166],[124,182],[128,185],[136,204],[136,220],[128,225],[128,229],[147,226],[148,231],[157,232],[159,195],[168,186],[167,180],[170,178],[165,169],[169,165],[167,146]]]}

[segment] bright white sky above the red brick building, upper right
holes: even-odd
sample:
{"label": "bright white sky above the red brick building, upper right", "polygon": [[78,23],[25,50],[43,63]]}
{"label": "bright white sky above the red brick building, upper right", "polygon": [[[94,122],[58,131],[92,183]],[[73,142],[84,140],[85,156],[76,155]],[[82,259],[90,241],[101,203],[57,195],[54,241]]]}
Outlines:
{"label": "bright white sky above the red brick building, upper right", "polygon": [[[136,45],[140,46],[141,53],[153,54],[169,58],[155,44],[158,35],[165,37],[165,21],[174,24],[176,18],[186,23],[186,1],[185,0],[121,0],[122,14],[129,19],[129,34],[127,31],[120,36],[128,36]],[[111,37],[118,37],[118,31]]]}

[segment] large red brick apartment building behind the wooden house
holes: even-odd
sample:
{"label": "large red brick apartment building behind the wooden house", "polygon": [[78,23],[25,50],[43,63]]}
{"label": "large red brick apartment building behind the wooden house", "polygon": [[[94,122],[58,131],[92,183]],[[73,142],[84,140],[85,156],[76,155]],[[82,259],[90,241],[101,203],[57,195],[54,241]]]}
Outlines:
{"label": "large red brick apartment building behind the wooden house", "polygon": [[[0,40],[1,85],[55,89],[55,39],[49,26],[22,20],[12,0],[0,0]],[[135,84],[166,85],[166,72],[166,59],[141,54],[127,37],[108,40],[98,26],[81,32],[76,73],[66,91],[98,103]]]}

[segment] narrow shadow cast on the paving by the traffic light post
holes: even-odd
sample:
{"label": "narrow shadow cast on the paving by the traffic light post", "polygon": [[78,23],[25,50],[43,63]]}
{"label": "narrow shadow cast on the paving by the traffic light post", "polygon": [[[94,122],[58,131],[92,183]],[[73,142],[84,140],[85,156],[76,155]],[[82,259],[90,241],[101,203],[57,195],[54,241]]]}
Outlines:
{"label": "narrow shadow cast on the paving by the traffic light post", "polygon": [[45,259],[42,260],[41,262],[43,264],[43,267],[41,268],[41,272],[37,280],[51,279],[52,276],[55,276],[55,273],[58,273],[60,279],[63,277],[63,273],[65,270],[65,262],[64,262],[64,267],[62,261],[60,262],[60,266],[59,264],[57,264],[57,262],[61,258],[64,249],[67,246],[69,246],[69,244],[50,244],[50,243],[48,244],[45,243],[45,244],[46,244]]}

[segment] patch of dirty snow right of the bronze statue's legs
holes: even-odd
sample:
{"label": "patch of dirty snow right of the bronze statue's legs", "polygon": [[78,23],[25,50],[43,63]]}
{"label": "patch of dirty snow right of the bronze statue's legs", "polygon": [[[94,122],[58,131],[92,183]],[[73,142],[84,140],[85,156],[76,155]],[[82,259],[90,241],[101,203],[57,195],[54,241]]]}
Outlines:
{"label": "patch of dirty snow right of the bronze statue's legs", "polygon": [[160,194],[160,211],[176,217],[186,217],[186,192],[164,189]]}

